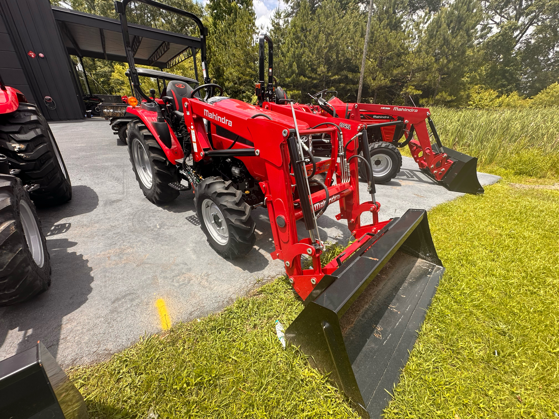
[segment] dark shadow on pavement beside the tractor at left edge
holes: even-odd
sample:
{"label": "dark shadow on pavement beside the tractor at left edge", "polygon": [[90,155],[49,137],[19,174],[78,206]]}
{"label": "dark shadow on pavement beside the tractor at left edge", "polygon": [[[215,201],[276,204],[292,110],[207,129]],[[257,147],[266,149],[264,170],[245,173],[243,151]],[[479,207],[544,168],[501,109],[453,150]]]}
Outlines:
{"label": "dark shadow on pavement beside the tractor at left edge", "polygon": [[6,358],[6,352],[16,354],[35,346],[37,340],[56,357],[64,317],[83,306],[92,291],[89,260],[69,251],[78,243],[54,238],[72,227],[70,222],[58,224],[61,218],[82,215],[97,207],[98,197],[93,189],[76,185],[72,194],[72,201],[38,211],[50,254],[51,286],[30,301],[0,308],[0,359]]}

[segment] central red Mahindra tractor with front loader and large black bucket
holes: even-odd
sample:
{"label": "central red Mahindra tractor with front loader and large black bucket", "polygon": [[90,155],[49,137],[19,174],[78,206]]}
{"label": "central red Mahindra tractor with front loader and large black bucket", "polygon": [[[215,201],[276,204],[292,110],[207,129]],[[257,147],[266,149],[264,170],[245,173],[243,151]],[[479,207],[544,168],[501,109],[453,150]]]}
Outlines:
{"label": "central red Mahindra tractor with front loader and large black bucket", "polygon": [[[275,245],[271,256],[283,261],[305,304],[287,328],[287,340],[331,373],[363,417],[378,416],[387,401],[383,388],[397,382],[444,271],[427,213],[409,209],[402,217],[378,220],[363,122],[316,115],[293,103],[259,107],[214,96],[223,90],[207,74],[207,28],[192,13],[153,0],[138,1],[196,22],[204,84],[192,88],[172,80],[167,96],[145,94],[127,31],[129,1],[115,2],[115,9],[140,98],[127,108],[132,118],[127,144],[144,195],[162,203],[194,188],[202,231],[225,258],[252,250],[251,212],[267,211]],[[363,202],[358,161],[367,169],[370,197]],[[325,244],[317,219],[335,202],[337,220],[347,221],[355,240],[322,266]],[[305,259],[309,269],[302,265]]]}

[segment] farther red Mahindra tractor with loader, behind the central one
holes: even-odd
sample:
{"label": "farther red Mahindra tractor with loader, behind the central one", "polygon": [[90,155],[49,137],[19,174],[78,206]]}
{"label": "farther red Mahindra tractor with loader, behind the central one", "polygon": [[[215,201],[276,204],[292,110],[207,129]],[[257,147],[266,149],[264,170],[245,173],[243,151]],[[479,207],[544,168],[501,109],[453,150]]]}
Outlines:
{"label": "farther red Mahindra tractor with loader, behind the central one", "polygon": [[[264,44],[268,43],[268,83],[264,82]],[[259,37],[259,83],[256,92],[260,106],[265,102],[287,103],[287,94],[273,84],[273,44],[266,34]],[[326,101],[325,95],[333,94]],[[393,106],[371,103],[345,103],[336,91],[324,89],[309,96],[318,103],[305,108],[319,115],[362,122],[367,126],[369,155],[375,181],[389,182],[402,166],[399,149],[409,146],[411,155],[421,171],[437,183],[454,192],[483,193],[477,179],[477,158],[459,153],[441,144],[429,108]],[[427,122],[426,122],[427,121]],[[434,144],[431,144],[427,123]],[[415,136],[414,136],[415,134]],[[404,138],[404,141],[400,141]],[[362,151],[360,150],[362,154]],[[366,169],[360,164],[359,174],[366,179]]]}

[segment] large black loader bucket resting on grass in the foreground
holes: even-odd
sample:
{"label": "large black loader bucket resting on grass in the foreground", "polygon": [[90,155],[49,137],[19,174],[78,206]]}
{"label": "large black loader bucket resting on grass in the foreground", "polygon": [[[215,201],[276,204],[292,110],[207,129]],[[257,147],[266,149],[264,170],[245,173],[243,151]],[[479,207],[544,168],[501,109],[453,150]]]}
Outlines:
{"label": "large black loader bucket resting on grass in the foreground", "polygon": [[422,209],[362,242],[320,281],[286,338],[363,417],[380,418],[444,268]]}

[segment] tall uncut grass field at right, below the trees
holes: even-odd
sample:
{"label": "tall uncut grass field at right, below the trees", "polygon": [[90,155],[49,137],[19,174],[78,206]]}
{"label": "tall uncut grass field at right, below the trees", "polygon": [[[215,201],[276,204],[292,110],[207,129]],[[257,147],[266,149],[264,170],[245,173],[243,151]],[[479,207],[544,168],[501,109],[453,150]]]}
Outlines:
{"label": "tall uncut grass field at right, below the trees", "polygon": [[559,107],[430,108],[444,146],[477,156],[478,170],[559,175]]}

